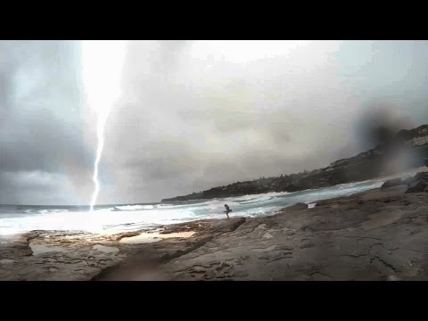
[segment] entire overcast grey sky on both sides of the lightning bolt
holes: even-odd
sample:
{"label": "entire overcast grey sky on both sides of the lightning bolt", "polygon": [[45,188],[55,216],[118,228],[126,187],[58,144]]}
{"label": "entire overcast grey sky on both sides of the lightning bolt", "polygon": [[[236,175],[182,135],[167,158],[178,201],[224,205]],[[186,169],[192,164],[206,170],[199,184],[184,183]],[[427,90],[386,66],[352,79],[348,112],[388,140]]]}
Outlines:
{"label": "entire overcast grey sky on both sides of the lightning bolt", "polygon": [[[90,201],[80,53],[78,41],[0,42],[0,203]],[[428,123],[427,57],[425,41],[129,42],[98,203],[324,167],[372,147],[361,128],[382,106],[407,128]]]}

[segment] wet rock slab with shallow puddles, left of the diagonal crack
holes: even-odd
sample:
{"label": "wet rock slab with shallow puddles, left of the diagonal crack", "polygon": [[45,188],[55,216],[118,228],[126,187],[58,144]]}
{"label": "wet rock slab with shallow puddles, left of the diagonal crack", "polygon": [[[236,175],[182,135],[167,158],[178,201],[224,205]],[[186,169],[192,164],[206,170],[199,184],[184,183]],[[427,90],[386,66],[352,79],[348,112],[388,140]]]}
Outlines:
{"label": "wet rock slab with shallow puddles, left of the diagonal crack", "polygon": [[[142,268],[155,268],[168,259],[193,251],[213,237],[235,229],[243,221],[244,218],[203,220],[161,226],[155,231],[141,230],[117,235],[31,231],[0,243],[0,280],[138,279]],[[189,230],[196,232],[189,238],[120,243],[122,239],[141,234],[179,235]],[[137,276],[131,273],[134,270]]]}

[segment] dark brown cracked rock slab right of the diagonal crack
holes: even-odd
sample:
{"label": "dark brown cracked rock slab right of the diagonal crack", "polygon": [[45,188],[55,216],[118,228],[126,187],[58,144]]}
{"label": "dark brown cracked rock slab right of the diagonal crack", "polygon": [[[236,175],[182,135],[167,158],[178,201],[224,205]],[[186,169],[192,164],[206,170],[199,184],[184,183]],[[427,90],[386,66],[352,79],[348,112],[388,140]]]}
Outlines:
{"label": "dark brown cracked rock slab right of the diagonal crack", "polygon": [[428,193],[379,189],[247,220],[169,261],[172,280],[428,280]]}

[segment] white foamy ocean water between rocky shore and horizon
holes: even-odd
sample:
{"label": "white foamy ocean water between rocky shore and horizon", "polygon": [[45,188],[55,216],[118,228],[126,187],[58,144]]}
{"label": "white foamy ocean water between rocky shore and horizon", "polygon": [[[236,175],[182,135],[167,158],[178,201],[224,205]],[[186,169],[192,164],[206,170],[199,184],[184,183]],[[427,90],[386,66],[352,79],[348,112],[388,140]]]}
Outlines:
{"label": "white foamy ocean water between rocky shore and horizon", "polygon": [[[275,214],[297,202],[312,204],[380,187],[385,178],[334,185],[294,193],[262,193],[238,197],[185,202],[152,202],[95,206],[0,205],[0,235],[31,230],[67,230],[112,234],[142,228],[154,229],[204,218],[226,218],[224,204],[233,210],[230,217],[262,217]],[[310,206],[309,206],[310,207]]]}

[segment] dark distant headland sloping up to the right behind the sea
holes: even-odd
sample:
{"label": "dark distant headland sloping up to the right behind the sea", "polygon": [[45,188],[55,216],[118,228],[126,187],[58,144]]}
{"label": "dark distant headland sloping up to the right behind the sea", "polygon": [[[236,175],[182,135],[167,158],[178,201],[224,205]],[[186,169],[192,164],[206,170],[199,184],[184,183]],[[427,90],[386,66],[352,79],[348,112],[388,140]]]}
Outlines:
{"label": "dark distant headland sloping up to the right behind the sea", "polygon": [[385,164],[393,160],[398,152],[405,152],[409,156],[406,164],[408,169],[426,165],[428,159],[428,125],[422,125],[411,130],[402,129],[390,142],[378,145],[369,151],[360,152],[354,157],[333,161],[324,169],[237,182],[226,186],[213,187],[201,193],[163,199],[161,202],[223,198],[254,193],[296,192],[362,181],[383,174],[392,174],[385,172],[387,168]]}

